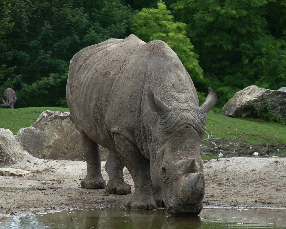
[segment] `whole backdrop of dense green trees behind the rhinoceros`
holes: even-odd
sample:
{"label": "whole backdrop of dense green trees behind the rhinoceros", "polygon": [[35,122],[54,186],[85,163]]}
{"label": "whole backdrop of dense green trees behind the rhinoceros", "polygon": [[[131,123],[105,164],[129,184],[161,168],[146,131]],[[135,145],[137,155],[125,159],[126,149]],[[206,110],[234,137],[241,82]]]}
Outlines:
{"label": "whole backdrop of dense green trees behind the rhinoceros", "polygon": [[[249,85],[286,86],[286,0],[4,0],[0,93],[16,107],[66,106],[69,61],[83,47],[131,31],[164,40],[199,91],[223,106]],[[167,6],[167,7],[166,7]]]}

